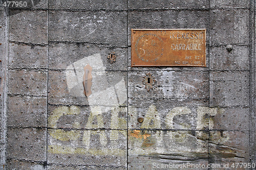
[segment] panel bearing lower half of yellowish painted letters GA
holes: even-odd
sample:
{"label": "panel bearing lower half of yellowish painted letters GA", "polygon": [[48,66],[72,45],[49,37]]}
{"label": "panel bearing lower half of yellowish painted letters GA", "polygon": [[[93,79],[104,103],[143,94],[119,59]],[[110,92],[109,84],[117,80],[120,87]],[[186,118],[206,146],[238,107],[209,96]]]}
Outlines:
{"label": "panel bearing lower half of yellowish painted letters GA", "polygon": [[126,130],[50,129],[48,133],[50,164],[126,166]]}

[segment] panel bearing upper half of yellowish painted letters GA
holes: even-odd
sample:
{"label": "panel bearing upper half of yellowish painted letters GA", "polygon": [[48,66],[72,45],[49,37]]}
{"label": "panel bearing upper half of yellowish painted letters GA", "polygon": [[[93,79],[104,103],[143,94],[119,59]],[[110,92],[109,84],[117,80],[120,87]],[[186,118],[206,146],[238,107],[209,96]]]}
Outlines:
{"label": "panel bearing upper half of yellowish painted letters GA", "polygon": [[48,106],[48,128],[127,129],[127,107]]}

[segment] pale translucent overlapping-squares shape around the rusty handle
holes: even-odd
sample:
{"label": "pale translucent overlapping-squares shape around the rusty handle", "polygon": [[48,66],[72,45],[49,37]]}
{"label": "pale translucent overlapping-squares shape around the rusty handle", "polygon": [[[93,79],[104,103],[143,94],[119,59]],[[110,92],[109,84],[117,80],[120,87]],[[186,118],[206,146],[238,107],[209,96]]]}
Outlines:
{"label": "pale translucent overlapping-squares shape around the rusty handle", "polygon": [[93,68],[92,94],[87,98],[91,110],[92,107],[99,106],[101,111],[106,111],[106,108],[111,109],[127,101],[126,86],[124,78],[120,73],[117,72],[116,76],[122,79],[119,79],[120,81],[116,82],[115,85],[108,87],[109,77],[105,71],[100,54],[84,57],[67,67],[66,78],[70,95],[86,98],[83,94],[82,81],[83,67],[87,64]]}

